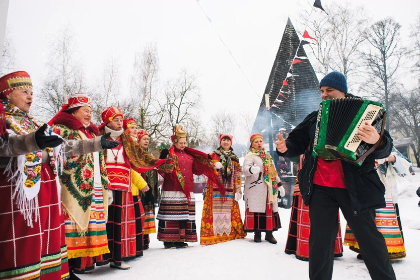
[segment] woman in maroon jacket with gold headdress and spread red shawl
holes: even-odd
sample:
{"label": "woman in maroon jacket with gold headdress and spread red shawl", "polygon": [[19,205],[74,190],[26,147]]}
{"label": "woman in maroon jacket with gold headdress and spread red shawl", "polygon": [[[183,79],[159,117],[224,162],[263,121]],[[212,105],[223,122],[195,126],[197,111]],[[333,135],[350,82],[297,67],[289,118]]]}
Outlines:
{"label": "woman in maroon jacket with gold headdress and spread red shawl", "polygon": [[219,180],[213,162],[207,154],[186,147],[187,135],[180,124],[175,125],[171,136],[173,146],[164,149],[160,158],[168,155],[174,161],[172,173],[161,173],[164,177],[161,201],[156,219],[159,220],[158,240],[165,249],[185,248],[185,242],[197,242],[195,226],[195,198],[193,174],[205,175],[208,183],[218,189],[226,199],[226,191]]}

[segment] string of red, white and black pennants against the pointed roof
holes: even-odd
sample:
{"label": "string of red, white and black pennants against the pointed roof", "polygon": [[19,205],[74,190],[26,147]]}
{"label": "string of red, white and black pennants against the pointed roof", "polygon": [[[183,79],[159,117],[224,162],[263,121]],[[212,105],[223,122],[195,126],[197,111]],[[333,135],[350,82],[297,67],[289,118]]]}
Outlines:
{"label": "string of red, white and black pennants against the pointed roof", "polygon": [[[322,10],[322,11],[324,11],[324,12],[325,12],[324,8],[322,8],[322,5],[321,5],[321,0],[315,0],[315,3],[314,3],[314,5],[313,5],[313,7],[314,7],[314,8],[318,8],[318,9],[320,9],[320,10]],[[310,13],[309,17],[311,17],[312,12],[314,11],[314,8],[312,8],[312,10],[311,10],[311,13]],[[326,12],[325,12],[325,13],[326,13]],[[326,13],[326,14],[327,14],[327,13]],[[328,15],[328,14],[327,14],[327,15]],[[266,107],[265,107],[265,109],[266,109],[266,110],[269,110],[270,108],[277,108],[277,109],[280,109],[279,107],[277,107],[277,106],[275,105],[275,104],[281,104],[281,103],[284,103],[284,101],[282,101],[281,99],[279,99],[279,97],[283,97],[284,99],[286,99],[286,100],[287,100],[287,98],[286,98],[286,96],[285,96],[284,94],[286,94],[286,95],[289,95],[289,94],[290,94],[290,92],[288,92],[288,91],[286,91],[286,90],[283,90],[283,88],[284,88],[284,87],[289,86],[289,83],[288,83],[288,81],[287,81],[287,80],[288,80],[289,78],[291,78],[291,77],[299,77],[299,75],[295,75],[295,74],[293,74],[293,73],[292,73],[292,68],[293,68],[293,66],[294,66],[294,65],[296,65],[296,64],[298,64],[298,63],[308,63],[308,61],[305,61],[305,60],[308,60],[308,57],[306,57],[306,56],[298,56],[298,51],[299,51],[299,48],[300,48],[301,46],[306,45],[306,44],[316,44],[317,40],[316,40],[316,38],[315,38],[314,36],[311,36],[311,35],[309,34],[309,32],[306,30],[306,28],[307,28],[307,27],[305,27],[305,30],[303,31],[301,41],[300,41],[300,43],[299,43],[299,45],[298,45],[298,48],[296,49],[295,56],[294,56],[294,58],[293,58],[293,60],[292,60],[292,64],[291,64],[291,65],[290,65],[290,67],[289,67],[289,71],[287,72],[286,78],[285,78],[285,79],[283,80],[283,82],[282,82],[282,88],[281,88],[281,89],[280,89],[280,91],[278,92],[278,95],[277,95],[277,97],[275,98],[274,103],[273,103],[273,104],[271,104],[271,106],[266,106]]]}

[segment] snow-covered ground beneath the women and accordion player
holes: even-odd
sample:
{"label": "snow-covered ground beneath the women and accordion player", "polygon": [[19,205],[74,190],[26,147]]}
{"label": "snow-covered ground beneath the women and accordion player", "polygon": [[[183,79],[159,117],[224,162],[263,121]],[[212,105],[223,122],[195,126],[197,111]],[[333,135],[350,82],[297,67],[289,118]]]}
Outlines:
{"label": "snow-covered ground beneath the women and accordion player", "polygon": [[[405,239],[407,257],[393,262],[397,279],[419,279],[420,276],[420,198],[415,194],[420,186],[420,169],[414,176],[404,178],[399,184],[399,209]],[[202,211],[202,196],[196,195],[196,224],[199,225]],[[244,201],[240,201],[242,218]],[[151,235],[150,248],[142,258],[131,260],[129,270],[96,267],[92,274],[78,275],[82,279],[307,279],[308,262],[294,255],[285,254],[291,209],[280,208],[282,229],[274,232],[278,243],[253,242],[253,234],[245,239],[201,246],[189,243],[185,249],[168,250]],[[345,220],[341,216],[344,238]],[[264,234],[263,234],[264,236]],[[363,260],[344,246],[343,257],[334,260],[333,279],[370,279]],[[416,276],[417,275],[417,276]]]}

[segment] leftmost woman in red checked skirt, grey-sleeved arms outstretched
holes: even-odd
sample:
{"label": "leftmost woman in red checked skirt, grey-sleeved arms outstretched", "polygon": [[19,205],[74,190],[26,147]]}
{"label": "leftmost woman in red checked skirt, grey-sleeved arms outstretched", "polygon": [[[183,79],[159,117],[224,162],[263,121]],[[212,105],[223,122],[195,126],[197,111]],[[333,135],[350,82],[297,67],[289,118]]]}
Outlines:
{"label": "leftmost woman in red checked skirt, grey-sleeved arms outstretched", "polygon": [[[26,72],[0,78],[0,99],[11,135],[34,132],[15,155],[0,157],[0,278],[68,278],[59,175],[63,159],[116,145],[105,137],[63,139],[30,113],[32,81]],[[38,134],[38,135],[37,135]],[[17,148],[17,147],[15,147]],[[2,149],[7,151],[6,149]],[[13,157],[10,157],[13,156]]]}

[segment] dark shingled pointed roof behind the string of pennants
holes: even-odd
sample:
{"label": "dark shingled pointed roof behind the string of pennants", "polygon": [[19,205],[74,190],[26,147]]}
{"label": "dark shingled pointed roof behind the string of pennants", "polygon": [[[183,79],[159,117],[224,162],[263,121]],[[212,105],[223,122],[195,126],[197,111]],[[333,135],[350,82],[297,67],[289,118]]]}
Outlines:
{"label": "dark shingled pointed roof behind the string of pennants", "polygon": [[[282,42],[278,48],[264,91],[264,95],[269,93],[270,104],[274,103],[278,93],[282,89],[283,81],[286,79],[286,75],[293,62],[299,43],[299,36],[296,33],[292,22],[288,19]],[[302,45],[299,46],[297,56],[306,56]],[[306,63],[300,62],[294,64],[291,68],[291,73],[293,75],[299,75],[299,77],[294,76],[287,79],[289,86],[284,86],[283,91],[288,93],[282,93],[287,99],[278,96],[278,99],[284,101],[284,103],[275,103],[279,109],[271,108],[274,135],[280,128],[286,128],[287,131],[290,131],[292,126],[298,125],[310,112],[317,110],[319,107],[321,93],[319,91],[318,79],[316,78],[309,59],[303,61]],[[259,105],[252,133],[260,133],[264,129],[267,130],[264,95],[262,96]]]}

